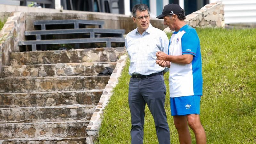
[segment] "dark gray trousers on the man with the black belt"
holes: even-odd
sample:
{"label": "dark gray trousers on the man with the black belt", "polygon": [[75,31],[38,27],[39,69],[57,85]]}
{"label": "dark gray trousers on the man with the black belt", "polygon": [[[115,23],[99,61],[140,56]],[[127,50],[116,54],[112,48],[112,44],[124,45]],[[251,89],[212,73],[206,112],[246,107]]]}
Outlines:
{"label": "dark gray trousers on the man with the black belt", "polygon": [[170,131],[164,109],[166,86],[163,75],[130,78],[129,108],[131,112],[131,144],[143,144],[146,103],[154,118],[159,144],[170,144]]}

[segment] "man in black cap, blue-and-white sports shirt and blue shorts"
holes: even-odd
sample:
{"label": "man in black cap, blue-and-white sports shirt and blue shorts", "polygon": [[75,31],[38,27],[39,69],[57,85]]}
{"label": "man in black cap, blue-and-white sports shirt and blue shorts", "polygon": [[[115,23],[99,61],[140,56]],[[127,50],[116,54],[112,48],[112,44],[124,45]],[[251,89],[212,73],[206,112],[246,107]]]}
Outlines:
{"label": "man in black cap, blue-and-white sports shirt and blue shorts", "polygon": [[205,144],[206,134],[200,122],[200,97],[203,94],[200,41],[196,30],[184,21],[185,11],[177,4],[168,4],[161,15],[164,25],[175,31],[168,54],[157,52],[156,64],[170,68],[170,105],[174,125],[181,144],[191,144],[188,129],[193,130],[196,143]]}

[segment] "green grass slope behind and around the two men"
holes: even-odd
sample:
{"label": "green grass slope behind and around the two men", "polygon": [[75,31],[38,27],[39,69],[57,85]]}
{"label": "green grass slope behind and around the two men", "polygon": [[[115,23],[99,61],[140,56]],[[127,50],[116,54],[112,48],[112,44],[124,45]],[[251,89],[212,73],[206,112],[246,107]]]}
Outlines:
{"label": "green grass slope behind and around the two men", "polygon": [[[207,142],[214,144],[256,143],[256,29],[197,29],[203,63],[201,122]],[[170,35],[169,35],[170,36]],[[99,132],[100,144],[130,143],[128,106],[129,60],[105,109]],[[168,74],[164,76],[168,85]],[[171,143],[178,134],[170,116],[169,90],[165,108]],[[196,143],[191,131],[192,143]],[[153,118],[146,107],[144,143],[158,143]]]}

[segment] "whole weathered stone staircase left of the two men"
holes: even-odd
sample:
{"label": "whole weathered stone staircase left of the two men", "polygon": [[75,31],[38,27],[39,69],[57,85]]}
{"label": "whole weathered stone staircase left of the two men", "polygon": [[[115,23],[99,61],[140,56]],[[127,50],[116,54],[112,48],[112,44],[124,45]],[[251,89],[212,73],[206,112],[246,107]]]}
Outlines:
{"label": "whole weathered stone staircase left of the two men", "polygon": [[124,47],[11,53],[0,78],[0,144],[85,144]]}

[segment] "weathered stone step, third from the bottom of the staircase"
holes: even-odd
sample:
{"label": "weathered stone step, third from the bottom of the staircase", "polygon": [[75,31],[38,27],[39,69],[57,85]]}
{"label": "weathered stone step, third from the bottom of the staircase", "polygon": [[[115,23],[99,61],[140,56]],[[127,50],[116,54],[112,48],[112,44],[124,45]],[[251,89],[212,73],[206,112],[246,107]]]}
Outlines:
{"label": "weathered stone step, third from the bottom of the staircase", "polygon": [[0,108],[1,123],[90,120],[95,105]]}

